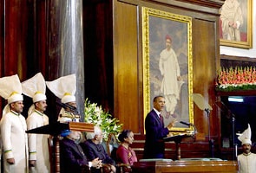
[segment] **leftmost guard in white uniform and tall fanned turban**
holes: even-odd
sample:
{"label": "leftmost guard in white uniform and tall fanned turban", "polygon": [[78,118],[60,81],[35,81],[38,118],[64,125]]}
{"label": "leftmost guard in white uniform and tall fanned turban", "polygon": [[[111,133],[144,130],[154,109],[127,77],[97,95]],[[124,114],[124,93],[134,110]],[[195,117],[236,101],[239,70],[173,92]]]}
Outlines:
{"label": "leftmost guard in white uniform and tall fanned turban", "polygon": [[0,78],[0,95],[8,100],[0,121],[3,143],[3,172],[27,173],[28,137],[23,112],[22,86],[17,75]]}

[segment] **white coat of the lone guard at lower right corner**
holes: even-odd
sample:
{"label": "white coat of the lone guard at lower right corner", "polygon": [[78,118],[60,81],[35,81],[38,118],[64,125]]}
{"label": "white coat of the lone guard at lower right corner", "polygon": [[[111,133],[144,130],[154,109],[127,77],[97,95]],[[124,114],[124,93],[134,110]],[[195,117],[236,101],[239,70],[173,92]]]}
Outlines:
{"label": "white coat of the lone guard at lower right corner", "polygon": [[238,156],[239,173],[255,173],[256,172],[256,154],[249,155],[240,154]]}

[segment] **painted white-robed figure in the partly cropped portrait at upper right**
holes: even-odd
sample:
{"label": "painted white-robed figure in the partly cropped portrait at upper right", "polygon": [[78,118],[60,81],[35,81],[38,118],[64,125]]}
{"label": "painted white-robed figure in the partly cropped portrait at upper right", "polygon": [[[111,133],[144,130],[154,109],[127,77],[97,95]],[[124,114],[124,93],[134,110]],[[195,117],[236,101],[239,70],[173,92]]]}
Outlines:
{"label": "painted white-robed figure in the partly cropped portrait at upper right", "polygon": [[220,11],[223,39],[240,42],[240,28],[243,14],[237,0],[226,0]]}

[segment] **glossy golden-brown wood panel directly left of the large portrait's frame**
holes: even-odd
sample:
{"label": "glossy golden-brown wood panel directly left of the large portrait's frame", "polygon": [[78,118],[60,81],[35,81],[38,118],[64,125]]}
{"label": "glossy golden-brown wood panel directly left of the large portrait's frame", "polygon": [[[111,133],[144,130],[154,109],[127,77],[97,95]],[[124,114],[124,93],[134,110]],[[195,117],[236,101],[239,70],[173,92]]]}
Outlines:
{"label": "glossy golden-brown wood panel directly left of the large portrait's frame", "polygon": [[138,11],[135,5],[114,5],[114,97],[115,117],[125,129],[140,131],[138,85]]}

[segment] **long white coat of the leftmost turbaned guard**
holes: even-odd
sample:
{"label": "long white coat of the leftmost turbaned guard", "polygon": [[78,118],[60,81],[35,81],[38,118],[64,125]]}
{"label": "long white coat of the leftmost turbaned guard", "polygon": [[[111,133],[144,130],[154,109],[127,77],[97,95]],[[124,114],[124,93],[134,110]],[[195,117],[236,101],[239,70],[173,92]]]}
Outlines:
{"label": "long white coat of the leftmost turbaned guard", "polygon": [[[26,120],[21,114],[8,112],[0,122],[3,143],[3,172],[24,173],[28,167],[28,137]],[[7,158],[14,158],[15,164],[7,163]]]}

